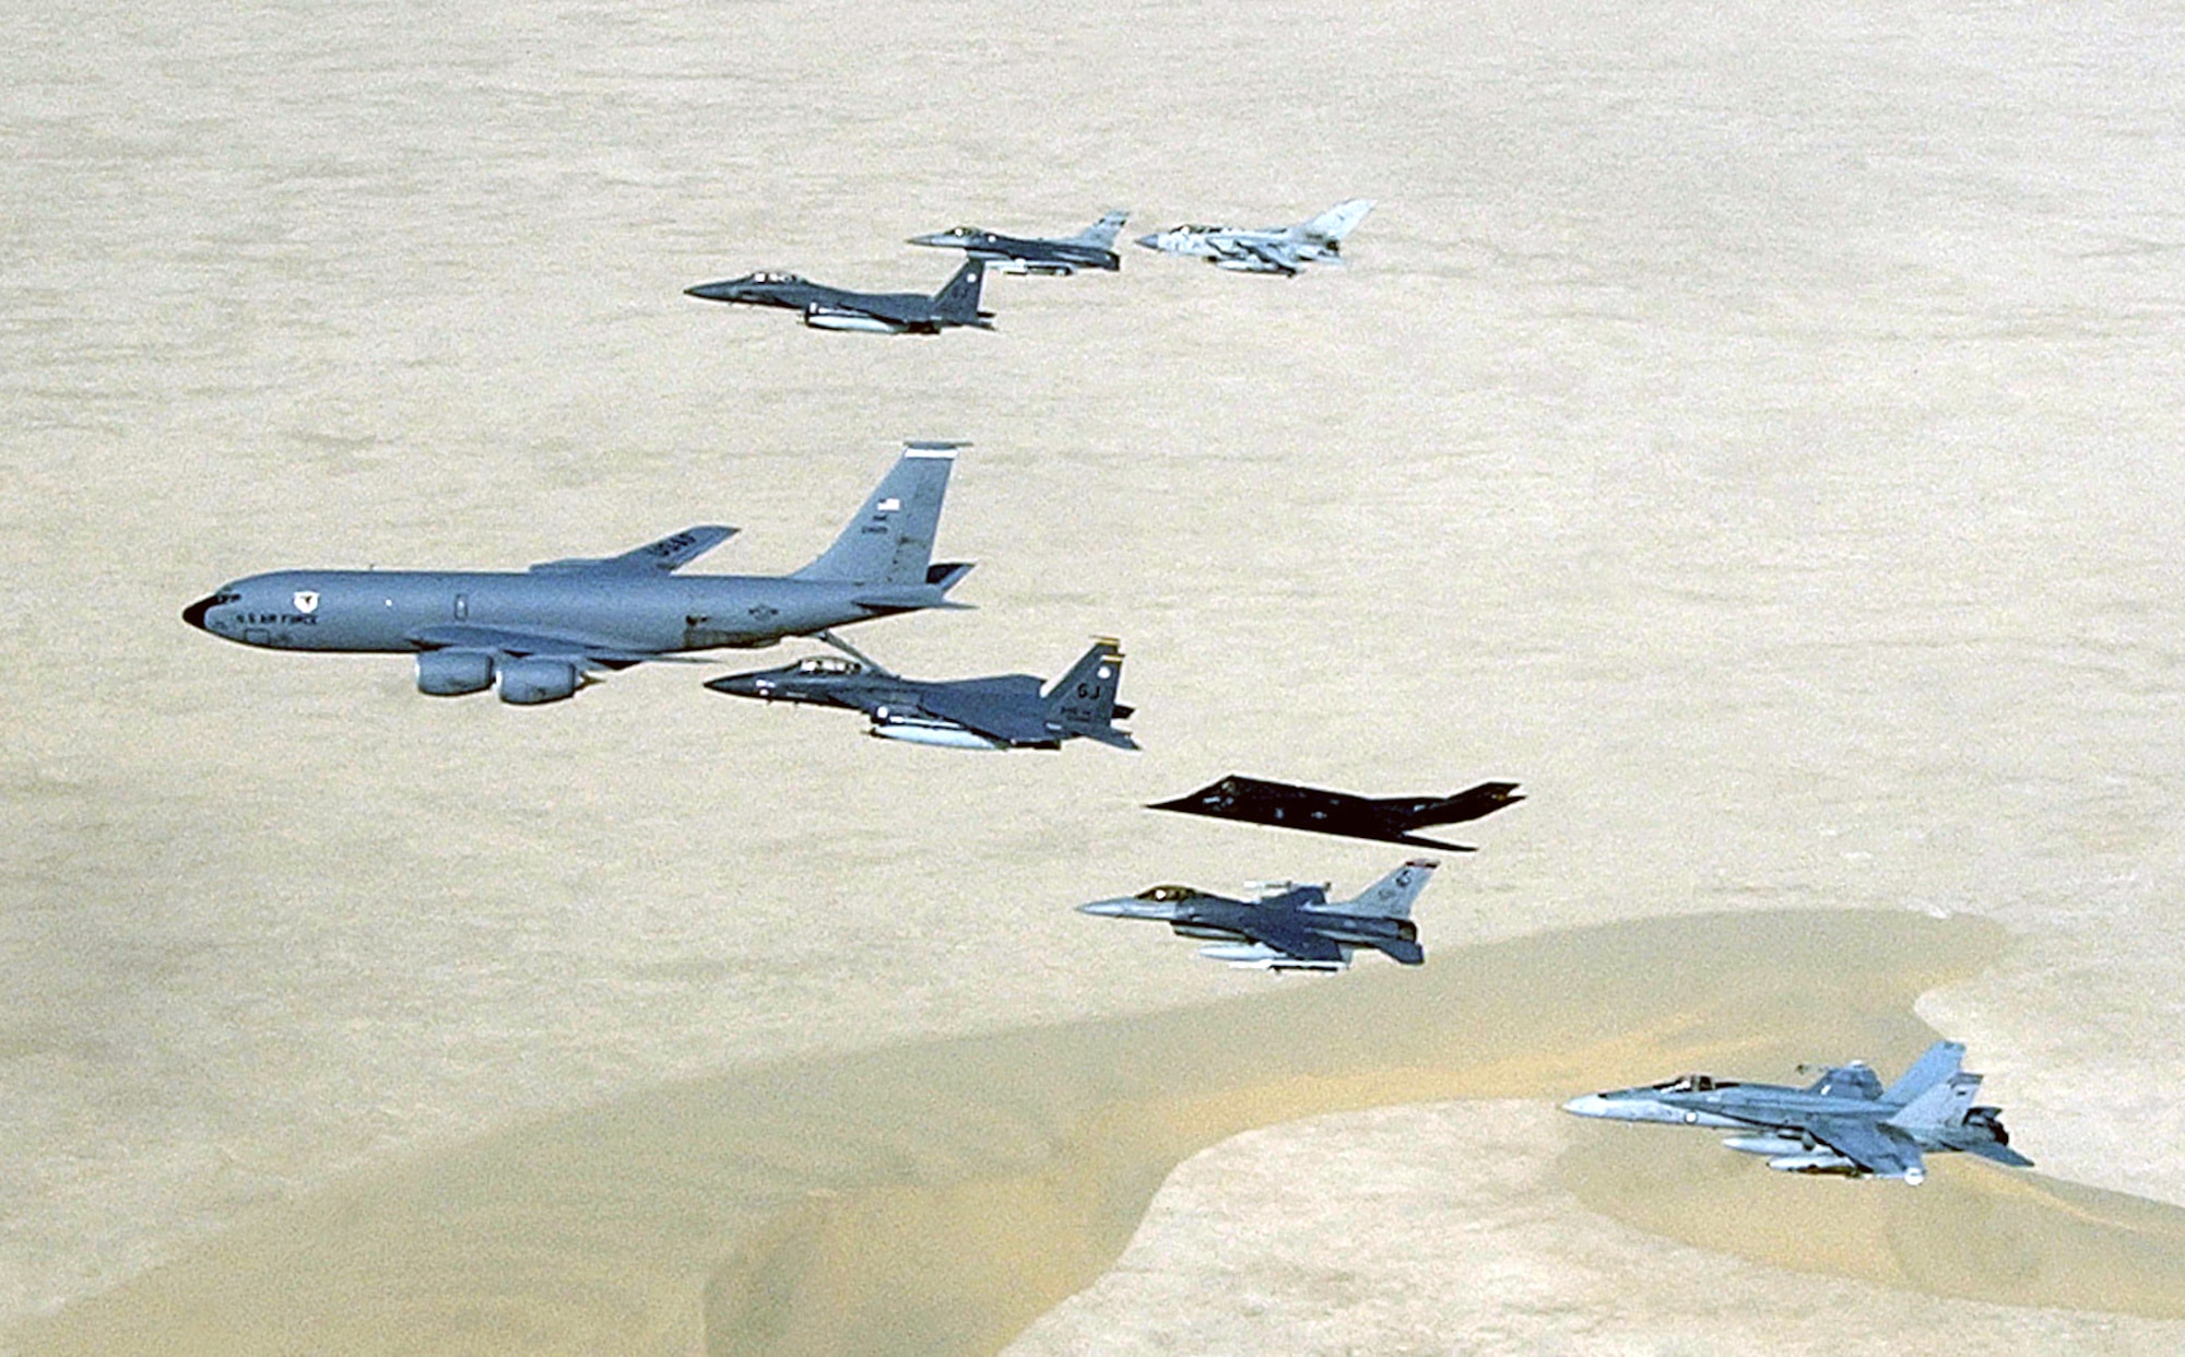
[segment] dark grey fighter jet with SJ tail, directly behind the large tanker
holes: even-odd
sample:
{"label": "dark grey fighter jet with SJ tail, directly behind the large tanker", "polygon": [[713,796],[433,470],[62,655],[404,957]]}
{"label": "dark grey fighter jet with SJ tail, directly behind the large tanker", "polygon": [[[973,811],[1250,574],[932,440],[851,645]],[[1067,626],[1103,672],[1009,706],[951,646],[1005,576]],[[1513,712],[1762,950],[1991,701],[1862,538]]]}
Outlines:
{"label": "dark grey fighter jet with SJ tail, directly behind the large tanker", "polygon": [[1060,750],[1062,741],[1086,736],[1117,750],[1136,750],[1138,743],[1114,728],[1114,719],[1130,717],[1132,710],[1114,701],[1121,682],[1123,651],[1114,640],[1101,638],[1044,693],[1029,673],[907,680],[863,656],[813,656],[784,669],[732,673],[706,686],[732,697],[850,708],[872,717],[867,734],[913,745]]}

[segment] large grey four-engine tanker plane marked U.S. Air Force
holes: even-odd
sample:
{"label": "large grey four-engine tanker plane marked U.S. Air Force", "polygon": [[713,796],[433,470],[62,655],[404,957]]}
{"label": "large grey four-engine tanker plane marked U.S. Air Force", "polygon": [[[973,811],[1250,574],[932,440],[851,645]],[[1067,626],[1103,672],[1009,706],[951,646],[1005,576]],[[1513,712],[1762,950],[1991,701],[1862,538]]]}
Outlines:
{"label": "large grey four-engine tanker plane marked U.S. Air Force", "polygon": [[610,557],[524,573],[280,570],[223,583],[181,621],[277,651],[415,653],[417,691],[559,701],[597,671],[677,651],[758,649],[950,603],[966,564],[929,564],[964,444],[902,457],[819,559],[782,577],[677,575],[736,529],[699,524]]}

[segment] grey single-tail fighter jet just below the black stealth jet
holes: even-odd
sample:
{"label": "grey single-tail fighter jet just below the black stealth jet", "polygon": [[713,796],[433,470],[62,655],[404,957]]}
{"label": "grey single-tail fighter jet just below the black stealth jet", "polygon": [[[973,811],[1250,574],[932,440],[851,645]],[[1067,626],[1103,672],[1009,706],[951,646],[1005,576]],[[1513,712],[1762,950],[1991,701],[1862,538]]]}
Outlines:
{"label": "grey single-tail fighter jet just below the black stealth jet", "polygon": [[1123,900],[1092,900],[1077,913],[1147,918],[1180,937],[1210,937],[1200,955],[1250,970],[1342,970],[1350,953],[1374,948],[1403,966],[1418,966],[1412,900],[1433,878],[1433,859],[1412,859],[1366,887],[1357,900],[1328,900],[1324,885],[1269,881],[1252,900],[1210,896],[1189,885],[1156,885]]}

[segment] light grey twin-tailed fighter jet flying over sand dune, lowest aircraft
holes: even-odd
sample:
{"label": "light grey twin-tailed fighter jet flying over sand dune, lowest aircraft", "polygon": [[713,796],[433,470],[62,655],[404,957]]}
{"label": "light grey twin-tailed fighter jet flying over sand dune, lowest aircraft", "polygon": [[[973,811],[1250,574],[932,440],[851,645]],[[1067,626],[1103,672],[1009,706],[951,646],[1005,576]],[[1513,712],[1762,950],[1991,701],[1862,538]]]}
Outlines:
{"label": "light grey twin-tailed fighter jet flying over sand dune, lowest aircraft", "polygon": [[1927,1047],[1901,1079],[1881,1079],[1862,1062],[1831,1064],[1805,1088],[1739,1084],[1685,1075],[1643,1088],[1591,1093],[1562,1104],[1578,1117],[1610,1121],[1667,1121],[1731,1130],[1722,1143],[1744,1154],[1765,1154],[1785,1173],[1840,1173],[1844,1178],[1927,1178],[1923,1154],[1962,1149],[1980,1158],[2030,1169],[2034,1160],[2010,1149],[2001,1108],[1975,1108],[1980,1075],[1960,1071],[1964,1047]]}

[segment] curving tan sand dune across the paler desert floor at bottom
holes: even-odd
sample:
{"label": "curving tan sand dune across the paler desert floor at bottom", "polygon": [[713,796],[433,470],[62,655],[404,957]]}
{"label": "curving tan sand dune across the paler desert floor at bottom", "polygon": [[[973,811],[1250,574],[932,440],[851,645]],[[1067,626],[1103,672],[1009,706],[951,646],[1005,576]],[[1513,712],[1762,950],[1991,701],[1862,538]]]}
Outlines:
{"label": "curving tan sand dune across the paler desert floor at bottom", "polygon": [[[1914,999],[2006,944],[1969,916],[1658,918],[1444,946],[1418,972],[736,1071],[277,1208],[70,1307],[28,1350],[992,1353],[1114,1261],[1173,1165],[1241,1130],[1687,1064],[1903,1060],[1932,1040]],[[1599,1136],[1571,1163],[1578,1193],[1680,1237],[1761,1206],[1700,1241],[1763,1261],[2185,1315],[2185,1211],[1956,1165],[1918,1191],[1811,1191],[1838,1184],[1667,1141]],[[1800,1254],[1811,1222],[1838,1246]]]}

